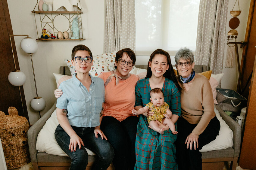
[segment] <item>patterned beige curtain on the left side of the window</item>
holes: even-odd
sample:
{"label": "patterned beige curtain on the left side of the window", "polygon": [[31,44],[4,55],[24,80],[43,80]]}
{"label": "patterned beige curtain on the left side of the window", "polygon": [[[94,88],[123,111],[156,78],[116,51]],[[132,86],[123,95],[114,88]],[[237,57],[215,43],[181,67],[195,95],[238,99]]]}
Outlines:
{"label": "patterned beige curtain on the left side of the window", "polygon": [[134,0],[105,0],[104,53],[130,48],[135,51]]}

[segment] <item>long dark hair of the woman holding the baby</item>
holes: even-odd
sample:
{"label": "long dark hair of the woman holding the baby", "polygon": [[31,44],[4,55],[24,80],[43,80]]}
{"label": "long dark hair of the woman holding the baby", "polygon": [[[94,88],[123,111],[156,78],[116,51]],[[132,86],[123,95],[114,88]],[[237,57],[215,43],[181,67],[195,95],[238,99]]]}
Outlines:
{"label": "long dark hair of the woman holding the baby", "polygon": [[157,54],[161,54],[161,55],[164,55],[166,56],[166,59],[167,59],[167,65],[169,65],[169,68],[168,70],[166,70],[166,72],[164,73],[164,77],[165,78],[168,78],[170,80],[172,80],[174,82],[174,84],[176,85],[176,87],[178,88],[178,90],[181,92],[181,87],[176,79],[176,76],[175,76],[175,73],[173,71],[173,66],[172,66],[172,63],[171,63],[171,58],[170,58],[170,55],[169,53],[167,53],[166,51],[162,50],[162,49],[156,49],[151,55],[150,55],[150,58],[148,60],[148,70],[147,70],[147,75],[145,78],[150,78],[152,76],[152,71],[151,71],[151,68],[149,67],[149,62],[152,62],[153,58],[155,57],[155,55]]}

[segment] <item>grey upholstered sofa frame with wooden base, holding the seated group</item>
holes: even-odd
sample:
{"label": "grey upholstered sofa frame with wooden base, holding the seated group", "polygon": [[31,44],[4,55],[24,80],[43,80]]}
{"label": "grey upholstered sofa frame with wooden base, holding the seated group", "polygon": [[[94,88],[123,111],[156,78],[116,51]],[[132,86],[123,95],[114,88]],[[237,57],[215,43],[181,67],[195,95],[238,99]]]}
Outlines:
{"label": "grey upholstered sofa frame with wooden base, holding the seated group", "polygon": [[[146,68],[147,66],[137,66],[138,68]],[[207,71],[206,66],[195,65],[196,73]],[[70,71],[67,66],[60,67],[60,74],[70,75]],[[220,169],[223,170],[224,162],[231,161],[230,169],[236,169],[237,159],[240,153],[240,139],[241,139],[241,127],[232,118],[230,118],[224,111],[222,111],[217,105],[217,110],[220,112],[220,116],[227,123],[230,129],[233,131],[233,146],[223,150],[214,150],[202,153],[203,169]],[[28,130],[28,143],[30,150],[31,162],[33,163],[34,170],[62,170],[68,169],[71,159],[65,156],[49,155],[45,152],[38,152],[36,150],[36,139],[39,131],[42,129],[45,122],[51,116],[52,112],[56,109],[56,102],[52,108],[44,114],[29,130]],[[89,156],[88,166],[86,169],[90,169],[95,156]],[[113,165],[109,168],[114,169]]]}

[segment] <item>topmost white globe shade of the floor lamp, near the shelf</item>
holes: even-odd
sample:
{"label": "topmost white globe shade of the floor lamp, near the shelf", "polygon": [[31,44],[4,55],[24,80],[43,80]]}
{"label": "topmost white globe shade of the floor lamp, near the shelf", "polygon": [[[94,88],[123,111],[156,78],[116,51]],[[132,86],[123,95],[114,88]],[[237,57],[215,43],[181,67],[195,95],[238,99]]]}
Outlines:
{"label": "topmost white globe shade of the floor lamp, near the shelf", "polygon": [[35,53],[38,45],[35,39],[27,37],[20,41],[20,47],[25,53]]}

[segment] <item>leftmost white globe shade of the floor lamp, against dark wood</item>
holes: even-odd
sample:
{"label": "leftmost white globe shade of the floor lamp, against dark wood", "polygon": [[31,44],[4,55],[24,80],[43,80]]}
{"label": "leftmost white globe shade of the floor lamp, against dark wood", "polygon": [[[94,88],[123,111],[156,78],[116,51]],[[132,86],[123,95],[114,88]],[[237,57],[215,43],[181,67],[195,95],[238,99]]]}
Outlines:
{"label": "leftmost white globe shade of the floor lamp, against dark wood", "polygon": [[12,71],[8,75],[8,80],[13,86],[22,86],[26,81],[26,75],[20,71]]}

